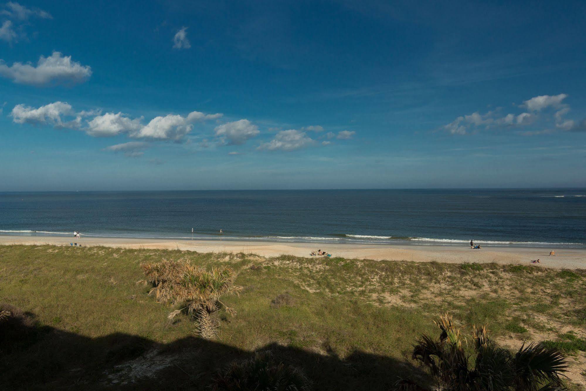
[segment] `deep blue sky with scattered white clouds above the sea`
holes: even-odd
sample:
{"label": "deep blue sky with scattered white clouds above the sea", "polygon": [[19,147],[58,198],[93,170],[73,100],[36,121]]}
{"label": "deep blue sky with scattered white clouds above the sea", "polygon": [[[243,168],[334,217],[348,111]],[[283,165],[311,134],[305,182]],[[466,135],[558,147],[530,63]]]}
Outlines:
{"label": "deep blue sky with scattered white clouds above the sea", "polygon": [[0,191],[586,187],[586,3],[0,4]]}

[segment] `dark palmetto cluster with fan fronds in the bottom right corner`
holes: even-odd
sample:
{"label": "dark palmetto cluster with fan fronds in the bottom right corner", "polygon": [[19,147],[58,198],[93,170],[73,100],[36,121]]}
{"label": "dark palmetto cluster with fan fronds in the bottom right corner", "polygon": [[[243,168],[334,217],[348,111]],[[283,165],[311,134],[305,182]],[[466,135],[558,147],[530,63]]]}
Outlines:
{"label": "dark palmetto cluster with fan fronds in the bottom right corner", "polygon": [[[423,335],[413,349],[417,360],[437,380],[432,388],[446,391],[546,391],[563,389],[561,377],[568,364],[557,349],[530,343],[513,355],[488,338],[486,327],[473,327],[473,354],[462,347],[459,329],[451,316],[435,324],[440,338]],[[431,390],[411,380],[397,382],[397,390]]]}

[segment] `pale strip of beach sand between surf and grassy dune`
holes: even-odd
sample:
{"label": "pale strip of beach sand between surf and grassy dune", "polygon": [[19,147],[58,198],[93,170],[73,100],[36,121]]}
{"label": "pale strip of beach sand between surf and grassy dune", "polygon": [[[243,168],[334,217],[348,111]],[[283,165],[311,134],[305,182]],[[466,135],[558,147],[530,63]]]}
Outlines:
{"label": "pale strip of beach sand between surf and grassy dune", "polygon": [[[386,259],[389,261],[415,262],[478,262],[498,264],[520,264],[532,267],[548,267],[560,269],[586,269],[586,250],[482,246],[482,250],[471,250],[463,245],[400,245],[400,244],[330,244],[330,243],[298,243],[270,241],[234,241],[234,240],[166,240],[146,238],[87,238],[74,239],[54,236],[9,236],[0,235],[0,244],[26,245],[70,245],[77,242],[84,246],[105,246],[120,248],[161,248],[168,250],[189,250],[197,252],[244,252],[263,257],[277,257],[287,254],[297,257],[308,257],[309,253],[321,248],[332,254],[332,257]],[[482,242],[479,242],[482,244]],[[550,257],[550,250],[556,256]],[[541,260],[540,264],[530,264],[530,259]]]}

